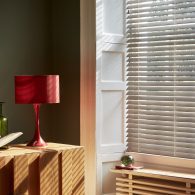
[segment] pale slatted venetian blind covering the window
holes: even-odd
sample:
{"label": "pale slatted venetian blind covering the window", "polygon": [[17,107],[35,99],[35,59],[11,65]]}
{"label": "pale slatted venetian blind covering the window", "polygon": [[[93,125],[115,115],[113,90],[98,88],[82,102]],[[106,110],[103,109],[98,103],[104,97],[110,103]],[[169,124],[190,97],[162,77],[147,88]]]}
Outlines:
{"label": "pale slatted venetian blind covering the window", "polygon": [[195,159],[195,1],[127,0],[128,150]]}

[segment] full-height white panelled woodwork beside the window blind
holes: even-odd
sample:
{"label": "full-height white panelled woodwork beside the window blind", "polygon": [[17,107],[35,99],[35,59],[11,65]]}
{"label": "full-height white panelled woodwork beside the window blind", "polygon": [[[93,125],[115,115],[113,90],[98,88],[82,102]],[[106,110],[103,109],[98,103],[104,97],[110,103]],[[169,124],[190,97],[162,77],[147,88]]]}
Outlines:
{"label": "full-height white panelled woodwork beside the window blind", "polygon": [[125,0],[96,0],[97,195],[115,192],[110,173],[125,150]]}

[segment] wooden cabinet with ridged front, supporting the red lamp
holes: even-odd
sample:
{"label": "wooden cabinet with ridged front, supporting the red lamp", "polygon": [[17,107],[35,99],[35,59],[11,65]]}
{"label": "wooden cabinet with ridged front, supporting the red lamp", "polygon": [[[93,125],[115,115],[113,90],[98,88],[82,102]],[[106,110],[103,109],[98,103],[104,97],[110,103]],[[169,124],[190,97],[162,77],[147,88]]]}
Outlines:
{"label": "wooden cabinet with ridged front, supporting the red lamp", "polygon": [[84,195],[84,149],[48,143],[0,150],[0,195]]}

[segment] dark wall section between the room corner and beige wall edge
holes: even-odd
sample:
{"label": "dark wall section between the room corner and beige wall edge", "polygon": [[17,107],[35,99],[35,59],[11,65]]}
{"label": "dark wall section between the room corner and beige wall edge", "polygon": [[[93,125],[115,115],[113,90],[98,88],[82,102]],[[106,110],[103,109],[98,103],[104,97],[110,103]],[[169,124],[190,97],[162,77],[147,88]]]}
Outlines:
{"label": "dark wall section between the room corner and beige wall edge", "polygon": [[60,74],[61,103],[53,111],[55,140],[80,140],[80,3],[53,0],[53,71]]}

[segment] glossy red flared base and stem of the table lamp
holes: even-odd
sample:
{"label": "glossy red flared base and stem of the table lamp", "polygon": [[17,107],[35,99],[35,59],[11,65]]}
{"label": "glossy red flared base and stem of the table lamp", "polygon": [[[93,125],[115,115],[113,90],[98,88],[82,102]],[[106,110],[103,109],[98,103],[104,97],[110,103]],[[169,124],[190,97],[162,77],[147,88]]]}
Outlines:
{"label": "glossy red flared base and stem of the table lamp", "polygon": [[46,146],[47,144],[41,138],[40,127],[39,127],[39,111],[40,104],[33,104],[33,108],[35,111],[35,133],[33,140],[28,143],[28,146]]}

